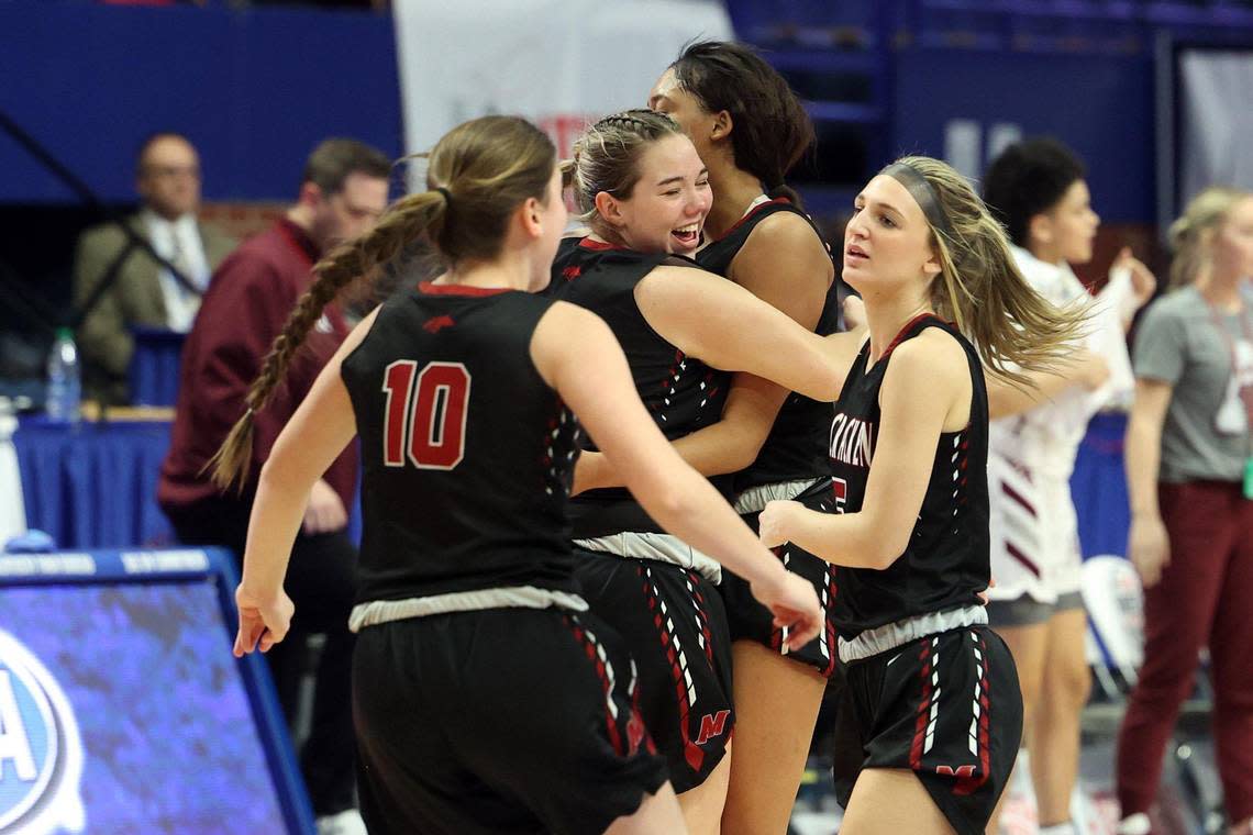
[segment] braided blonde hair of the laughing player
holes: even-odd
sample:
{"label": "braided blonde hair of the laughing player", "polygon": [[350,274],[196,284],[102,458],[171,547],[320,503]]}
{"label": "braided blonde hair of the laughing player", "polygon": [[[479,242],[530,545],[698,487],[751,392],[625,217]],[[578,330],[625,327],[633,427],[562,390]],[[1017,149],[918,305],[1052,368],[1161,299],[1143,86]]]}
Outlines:
{"label": "braided blonde hair of the laughing player", "polygon": [[605,192],[629,200],[639,183],[644,150],[672,134],[683,134],[674,119],[643,109],[615,113],[584,130],[574,143],[573,159],[561,163],[561,175],[579,207],[579,220],[598,233],[611,233],[599,222],[596,195]]}

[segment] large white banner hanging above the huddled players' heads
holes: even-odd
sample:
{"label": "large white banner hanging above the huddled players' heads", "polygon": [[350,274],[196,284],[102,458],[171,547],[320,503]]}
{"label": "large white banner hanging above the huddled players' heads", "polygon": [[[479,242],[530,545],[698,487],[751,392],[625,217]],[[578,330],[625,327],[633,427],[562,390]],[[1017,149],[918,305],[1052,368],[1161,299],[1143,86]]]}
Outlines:
{"label": "large white banner hanging above the huddled players' heads", "polygon": [[565,155],[589,119],[647,104],[683,44],[730,40],[707,0],[393,0],[405,143],[525,116]]}

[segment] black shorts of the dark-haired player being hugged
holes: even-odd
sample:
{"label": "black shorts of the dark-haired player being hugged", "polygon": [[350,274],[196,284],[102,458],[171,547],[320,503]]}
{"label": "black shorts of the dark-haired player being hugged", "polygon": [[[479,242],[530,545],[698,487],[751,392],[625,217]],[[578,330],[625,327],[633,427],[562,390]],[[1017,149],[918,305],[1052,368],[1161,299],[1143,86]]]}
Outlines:
{"label": "black shorts of the dark-haired player being hugged", "polygon": [[[831,479],[823,478],[792,501],[801,502],[812,511],[834,512]],[[748,527],[753,528],[754,533],[758,531],[758,516],[759,513],[746,513],[741,517],[748,523]],[[788,571],[813,585],[826,623],[816,638],[799,650],[789,650],[783,643],[783,630],[774,626],[774,616],[771,615],[771,610],[753,597],[748,581],[723,568],[722,585],[718,591],[727,606],[727,626],[730,631],[730,640],[756,641],[798,663],[813,667],[829,679],[836,670],[836,626],[831,621],[831,612],[836,605],[836,567],[822,557],[802,551],[791,542],[776,548],[774,552]]]}

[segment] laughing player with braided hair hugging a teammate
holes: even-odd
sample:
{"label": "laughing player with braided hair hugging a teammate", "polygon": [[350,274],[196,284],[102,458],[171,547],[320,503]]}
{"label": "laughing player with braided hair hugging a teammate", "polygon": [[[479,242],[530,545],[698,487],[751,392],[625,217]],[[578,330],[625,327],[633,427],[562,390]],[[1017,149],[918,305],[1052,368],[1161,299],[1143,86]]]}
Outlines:
{"label": "laughing player with braided hair hugging a teammate", "polygon": [[[833,372],[821,369],[814,386],[797,373],[794,357],[804,356],[811,343],[838,352],[837,338],[816,337],[709,273],[670,265],[673,253],[695,248],[710,197],[695,148],[669,116],[629,110],[601,119],[575,143],[570,173],[591,234],[563,242],[553,292],[605,318],[668,438],[734,419],[722,409],[727,376],[714,368],[747,369],[833,396]],[[843,339],[838,367],[847,367],[856,347],[855,338]],[[596,478],[610,469],[601,461]],[[594,483],[585,476],[576,473],[576,486]],[[580,580],[601,590],[590,601],[593,611],[604,612],[628,638],[640,665],[645,724],[670,759],[689,829],[718,831],[733,709],[729,641],[713,588],[718,566],[683,542],[659,537],[655,523],[620,489],[580,493],[574,507],[576,545],[599,555],[585,555]],[[654,598],[685,615],[674,618],[674,633],[658,636],[649,613]],[[772,627],[767,621],[766,628]],[[784,635],[777,638],[782,646],[803,646]],[[684,647],[687,671],[667,657],[674,643]],[[704,657],[693,656],[693,646],[703,646]],[[689,672],[694,686],[678,686],[677,679]]]}

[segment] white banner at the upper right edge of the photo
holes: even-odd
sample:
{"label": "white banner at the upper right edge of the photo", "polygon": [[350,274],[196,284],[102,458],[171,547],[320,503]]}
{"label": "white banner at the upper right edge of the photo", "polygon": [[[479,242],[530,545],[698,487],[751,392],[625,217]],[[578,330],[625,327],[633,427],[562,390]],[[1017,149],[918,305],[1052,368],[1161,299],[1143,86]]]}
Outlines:
{"label": "white banner at the upper right edge of the photo", "polygon": [[1253,51],[1179,59],[1180,210],[1208,185],[1253,189]]}

